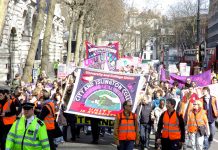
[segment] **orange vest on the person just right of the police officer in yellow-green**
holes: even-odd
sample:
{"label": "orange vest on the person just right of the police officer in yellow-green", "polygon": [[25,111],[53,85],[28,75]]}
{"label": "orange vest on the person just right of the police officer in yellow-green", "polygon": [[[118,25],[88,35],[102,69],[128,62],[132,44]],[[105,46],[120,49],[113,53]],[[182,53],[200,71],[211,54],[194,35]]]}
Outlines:
{"label": "orange vest on the person just right of the police officer in yellow-green", "polygon": [[[50,105],[50,106],[48,106]],[[47,130],[53,130],[55,129],[55,116],[54,116],[54,112],[55,112],[55,106],[53,102],[49,102],[45,105],[48,110],[49,110],[49,114],[45,117],[45,119],[43,120],[45,125],[46,125],[46,129]]]}

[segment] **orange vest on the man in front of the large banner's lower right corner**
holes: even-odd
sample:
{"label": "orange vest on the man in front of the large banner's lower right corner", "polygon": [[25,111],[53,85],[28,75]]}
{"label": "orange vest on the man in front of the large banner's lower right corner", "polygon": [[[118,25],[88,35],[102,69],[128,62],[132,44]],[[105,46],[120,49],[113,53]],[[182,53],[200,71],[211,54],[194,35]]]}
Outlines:
{"label": "orange vest on the man in front of the large banner's lower right corner", "polygon": [[119,140],[136,140],[136,114],[130,113],[127,119],[124,112],[122,112],[118,115],[118,119],[120,120],[118,129]]}

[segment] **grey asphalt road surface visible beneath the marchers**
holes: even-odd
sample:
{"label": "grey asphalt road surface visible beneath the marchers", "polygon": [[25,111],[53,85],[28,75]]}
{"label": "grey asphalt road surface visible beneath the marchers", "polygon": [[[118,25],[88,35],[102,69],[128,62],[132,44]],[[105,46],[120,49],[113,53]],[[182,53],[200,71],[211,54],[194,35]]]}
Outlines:
{"label": "grey asphalt road surface visible beneath the marchers", "polygon": [[[69,131],[70,132],[70,131]],[[68,133],[69,133],[68,132]],[[154,150],[154,135],[151,135],[150,149]],[[70,140],[70,134],[68,139]],[[100,136],[99,144],[91,144],[92,135],[85,135],[83,132],[80,138],[77,138],[75,142],[65,142],[60,144],[57,150],[116,150],[116,146],[113,144],[113,135],[105,134],[104,137]],[[216,130],[214,141],[210,147],[210,150],[217,150],[218,148],[218,130]],[[135,148],[136,150],[137,148]],[[191,150],[191,148],[188,148]]]}

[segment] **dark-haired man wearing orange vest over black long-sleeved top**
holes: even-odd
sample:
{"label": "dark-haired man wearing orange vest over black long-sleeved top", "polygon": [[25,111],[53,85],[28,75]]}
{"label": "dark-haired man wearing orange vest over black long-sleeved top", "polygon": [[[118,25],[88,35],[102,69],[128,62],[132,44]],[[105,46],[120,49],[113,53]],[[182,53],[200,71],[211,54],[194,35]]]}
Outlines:
{"label": "dark-haired man wearing orange vest over black long-sleeved top", "polygon": [[176,101],[167,99],[167,110],[160,116],[157,129],[157,144],[162,150],[179,150],[185,142],[185,127],[182,116],[174,109]]}

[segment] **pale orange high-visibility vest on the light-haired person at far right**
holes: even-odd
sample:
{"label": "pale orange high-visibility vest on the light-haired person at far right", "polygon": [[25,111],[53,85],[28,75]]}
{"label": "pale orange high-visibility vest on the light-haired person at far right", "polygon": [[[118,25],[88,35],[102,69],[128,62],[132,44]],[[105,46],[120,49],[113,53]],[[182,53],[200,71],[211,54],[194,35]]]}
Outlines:
{"label": "pale orange high-visibility vest on the light-haired person at far right", "polygon": [[[196,119],[195,119],[196,117]],[[196,133],[198,131],[197,126],[206,126],[206,123],[208,122],[207,120],[207,115],[205,110],[200,110],[195,116],[194,112],[191,111],[188,117],[188,132],[190,133]]]}

